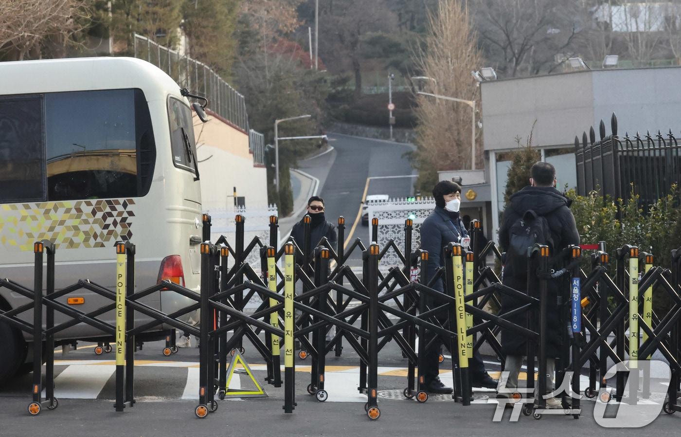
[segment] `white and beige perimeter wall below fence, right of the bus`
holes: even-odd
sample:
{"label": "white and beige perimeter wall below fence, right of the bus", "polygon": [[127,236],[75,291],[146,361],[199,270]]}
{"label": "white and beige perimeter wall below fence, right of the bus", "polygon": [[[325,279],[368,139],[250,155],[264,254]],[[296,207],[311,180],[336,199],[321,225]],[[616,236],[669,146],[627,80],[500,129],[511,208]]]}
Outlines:
{"label": "white and beige perimeter wall below fence, right of the bus", "polygon": [[237,196],[246,198],[247,208],[266,207],[266,169],[253,164],[248,134],[212,113],[209,117],[207,123],[194,117],[202,209],[231,210],[234,207],[233,187],[236,187]]}

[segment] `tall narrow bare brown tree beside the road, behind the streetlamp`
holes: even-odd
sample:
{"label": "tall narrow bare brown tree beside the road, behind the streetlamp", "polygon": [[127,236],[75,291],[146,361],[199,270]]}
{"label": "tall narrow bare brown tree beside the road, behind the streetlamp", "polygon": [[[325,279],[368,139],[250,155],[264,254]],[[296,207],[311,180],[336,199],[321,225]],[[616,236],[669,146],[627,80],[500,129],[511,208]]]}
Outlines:
{"label": "tall narrow bare brown tree beside the road, behind the streetlamp", "polygon": [[[430,89],[435,94],[477,100],[479,88],[471,70],[480,65],[481,53],[468,10],[460,0],[440,0],[428,21],[424,47],[417,48],[414,56],[422,74],[432,79]],[[459,102],[422,95],[418,100],[416,165],[423,187],[437,177],[437,170],[469,168],[473,114]],[[480,157],[478,153],[477,161]]]}

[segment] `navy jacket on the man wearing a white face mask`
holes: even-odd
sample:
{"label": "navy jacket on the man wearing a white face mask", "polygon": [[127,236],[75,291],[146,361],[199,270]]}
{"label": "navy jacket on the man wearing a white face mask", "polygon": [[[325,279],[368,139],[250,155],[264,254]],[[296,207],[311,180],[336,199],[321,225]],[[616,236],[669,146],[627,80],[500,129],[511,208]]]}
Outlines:
{"label": "navy jacket on the man wearing a white face mask", "polygon": [[[445,265],[444,247],[449,243],[459,243],[461,237],[468,237],[461,218],[458,226],[454,226],[449,214],[444,208],[435,209],[426,217],[421,225],[421,249],[428,251],[428,277],[432,278],[439,267]],[[439,280],[432,286],[435,290],[443,291],[443,282]]]}

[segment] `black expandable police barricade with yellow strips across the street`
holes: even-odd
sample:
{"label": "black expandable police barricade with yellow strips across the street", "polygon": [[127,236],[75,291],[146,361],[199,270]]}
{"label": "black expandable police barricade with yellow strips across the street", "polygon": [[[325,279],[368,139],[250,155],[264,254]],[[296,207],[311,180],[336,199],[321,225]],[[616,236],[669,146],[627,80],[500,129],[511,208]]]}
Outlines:
{"label": "black expandable police barricade with yellow strips across the street", "polygon": [[[503,258],[494,243],[482,245],[481,226],[479,222],[471,223],[471,240],[473,249],[465,252],[458,244],[449,244],[444,248],[447,262],[434,277],[428,277],[426,263],[428,253],[422,250],[411,250],[411,220],[405,222],[404,252],[390,241],[383,250],[376,243],[365,248],[360,239],[356,239],[349,250],[343,248],[343,238],[339,238],[336,251],[328,247],[328,241],[322,240],[310,253],[301,251],[295,241],[289,241],[280,250],[276,250],[276,217],[270,217],[270,245],[264,245],[259,238],[253,239],[244,247],[244,217],[237,216],[237,239],[234,246],[229,245],[224,237],[213,245],[210,237],[210,217],[204,215],[204,241],[201,245],[202,277],[201,293],[197,293],[164,281],[161,284],[134,291],[134,255],[135,247],[129,242],[116,243],[117,269],[116,290],[108,290],[88,280],[80,280],[76,284],[55,292],[54,290],[54,246],[48,241],[35,243],[35,280],[33,290],[16,284],[11,280],[0,280],[0,286],[8,288],[31,299],[30,303],[10,311],[0,311],[0,318],[10,325],[22,329],[35,339],[46,342],[46,401],[42,400],[42,342],[34,342],[34,384],[33,402],[29,405],[31,415],[37,415],[41,407],[57,408],[54,398],[54,333],[80,322],[100,329],[108,335],[116,337],[116,410],[122,411],[125,406],[132,406],[134,352],[136,336],[159,325],[168,325],[182,329],[200,337],[200,403],[195,408],[197,417],[206,417],[208,412],[217,410],[215,395],[223,397],[227,389],[225,380],[227,354],[238,348],[243,352],[244,335],[251,341],[257,352],[268,364],[266,380],[272,385],[285,385],[285,412],[293,412],[295,402],[294,385],[294,339],[301,342],[300,357],[310,355],[313,360],[311,383],[308,393],[314,394],[320,402],[328,399],[332,393],[324,389],[324,373],[326,354],[334,350],[340,354],[341,339],[351,346],[360,357],[361,393],[366,393],[365,410],[370,419],[378,419],[381,411],[377,406],[378,392],[378,354],[381,348],[391,340],[395,340],[409,362],[407,388],[405,397],[416,397],[419,402],[428,400],[423,390],[423,375],[415,375],[418,359],[432,342],[442,340],[445,348],[452,353],[452,370],[454,372],[454,394],[462,404],[470,403],[471,387],[468,375],[468,359],[473,350],[483,342],[488,342],[492,349],[501,355],[501,348],[496,340],[498,329],[503,327],[522,335],[528,342],[528,387],[534,387],[535,355],[537,356],[538,373],[546,373],[545,332],[547,325],[546,303],[548,299],[547,284],[550,280],[567,275],[569,287],[565,287],[560,295],[560,319],[564,323],[564,349],[556,366],[559,385],[562,378],[572,372],[571,389],[580,393],[579,373],[582,367],[589,364],[590,384],[586,395],[595,394],[595,378],[599,374],[599,396],[601,400],[609,400],[609,391],[605,391],[607,382],[604,379],[607,359],[616,362],[624,361],[627,351],[630,366],[629,378],[639,378],[636,361],[639,357],[650,357],[653,352],[660,351],[672,369],[672,382],[665,402],[665,412],[681,410],[677,395],[679,390],[679,374],[681,354],[679,350],[679,324],[681,319],[681,284],[679,269],[681,267],[681,251],[672,253],[670,269],[653,266],[650,254],[642,254],[639,261],[637,247],[624,246],[617,251],[617,269],[615,280],[607,271],[609,257],[605,252],[592,254],[592,269],[585,273],[579,267],[581,257],[579,247],[569,247],[562,254],[554,254],[563,258],[565,267],[558,271],[549,269],[549,248],[535,245],[530,248],[528,263],[528,282],[537,284],[530,286],[530,292],[513,290],[501,284],[496,273],[486,265],[488,254]],[[344,225],[342,217],[339,225]],[[373,224],[373,233],[377,230],[377,221]],[[343,227],[339,226],[342,234]],[[304,228],[304,248],[310,247],[309,220]],[[339,237],[340,237],[339,235]],[[274,236],[274,237],[272,237]],[[374,235],[376,237],[376,235]],[[262,277],[246,257],[252,250],[260,250]],[[602,247],[604,249],[604,247]],[[349,255],[360,249],[363,252],[362,279],[345,265]],[[379,271],[379,258],[387,250],[394,250],[402,261],[402,266],[392,267],[387,274]],[[48,254],[46,293],[42,293],[43,254]],[[296,263],[296,254],[300,254],[302,263]],[[234,265],[228,266],[229,255],[234,258]],[[283,271],[277,261],[283,258]],[[336,266],[330,269],[329,262]],[[638,265],[644,263],[639,279]],[[420,264],[419,277],[413,275],[412,268]],[[628,266],[628,268],[627,268]],[[445,292],[430,288],[434,281],[443,277]],[[302,294],[295,296],[297,281],[302,284]],[[347,285],[345,285],[347,284]],[[63,305],[55,299],[67,297],[72,292],[85,288],[110,299],[112,303],[93,312],[84,313]],[[662,315],[652,311],[652,288],[661,288],[668,293],[672,301],[671,310]],[[138,301],[159,290],[177,292],[193,301],[192,305],[172,314],[165,314]],[[537,291],[538,290],[538,291]],[[336,292],[336,299],[331,293]],[[522,307],[502,316],[485,310],[487,303],[498,305],[499,294],[507,294],[524,302]],[[262,298],[253,314],[244,311],[247,302],[255,295]],[[608,298],[614,299],[614,306],[608,304]],[[586,303],[584,303],[586,301]],[[350,305],[356,302],[357,305]],[[392,305],[394,304],[394,305]],[[582,306],[585,305],[584,312]],[[46,323],[42,321],[42,308],[46,307]],[[33,324],[21,318],[19,314],[33,310]],[[116,310],[116,325],[103,322],[97,318],[106,312]],[[193,327],[180,318],[194,310],[201,310],[200,327]],[[54,326],[54,311],[69,316],[70,320]],[[296,318],[296,311],[300,316]],[[134,313],[140,312],[153,319],[143,325],[135,326]],[[393,323],[388,315],[396,316],[398,322]],[[509,316],[526,314],[527,326],[513,324]],[[360,322],[360,327],[356,327]],[[43,326],[45,325],[45,326]],[[582,325],[588,331],[582,334]],[[283,327],[283,329],[281,328]],[[337,331],[330,344],[326,344],[326,333],[331,327]],[[629,335],[626,334],[629,329]],[[228,337],[227,333],[233,331]],[[262,342],[259,333],[266,333],[266,341]],[[401,332],[400,332],[401,331]],[[427,331],[432,333],[427,334]],[[643,332],[642,339],[639,331]],[[608,340],[614,333],[614,340]],[[308,335],[312,334],[312,341]],[[419,347],[415,348],[415,337],[419,337]],[[281,380],[280,348],[284,346],[284,380]],[[537,352],[535,354],[535,351]],[[216,361],[217,359],[217,361]],[[217,363],[217,365],[216,365]],[[125,365],[125,367],[124,367]],[[418,366],[419,369],[422,366]],[[646,374],[643,378],[650,378]],[[538,378],[538,393],[545,393],[545,378]],[[637,385],[636,385],[637,387]],[[614,398],[622,400],[624,395],[624,374],[618,373]],[[606,395],[603,395],[606,393]],[[580,406],[577,397],[563,393],[564,406],[577,410]],[[644,393],[644,396],[646,393]],[[635,400],[637,393],[629,393],[630,400]],[[630,401],[631,402],[631,401]],[[541,418],[545,408],[545,399],[539,396],[538,402],[528,404],[524,408],[526,415],[533,414]],[[575,417],[577,413],[574,414]]]}

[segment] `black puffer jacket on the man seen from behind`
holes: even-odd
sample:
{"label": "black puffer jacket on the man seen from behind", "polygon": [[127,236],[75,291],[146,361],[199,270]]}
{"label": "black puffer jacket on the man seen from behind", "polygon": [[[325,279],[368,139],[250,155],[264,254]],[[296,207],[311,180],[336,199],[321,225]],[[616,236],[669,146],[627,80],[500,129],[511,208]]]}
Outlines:
{"label": "black puffer jacket on the man seen from behind", "polygon": [[[511,205],[504,211],[501,228],[499,228],[499,243],[502,250],[506,251],[509,247],[509,230],[511,226],[522,215],[532,209],[535,213],[543,215],[549,224],[554,242],[554,253],[563,250],[568,245],[579,244],[580,234],[577,232],[575,217],[569,209],[571,200],[563,196],[554,187],[524,187],[522,190],[511,196]],[[507,263],[508,265],[508,263]],[[513,275],[514,272],[504,270],[503,284],[516,290],[527,292],[527,282],[525,277]],[[556,297],[561,287],[569,286],[565,279],[551,280],[549,282],[549,301],[547,303],[548,312],[548,342],[547,356],[558,357],[560,355],[561,329],[558,306]],[[522,302],[513,297],[502,295],[501,314],[522,306]],[[516,325],[526,327],[526,315],[509,318]],[[501,348],[507,355],[526,355],[526,341],[518,333],[507,329],[501,330]]]}

